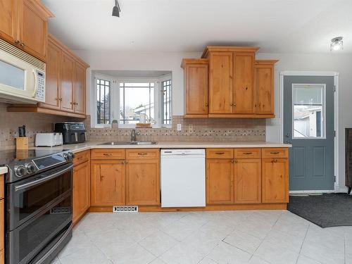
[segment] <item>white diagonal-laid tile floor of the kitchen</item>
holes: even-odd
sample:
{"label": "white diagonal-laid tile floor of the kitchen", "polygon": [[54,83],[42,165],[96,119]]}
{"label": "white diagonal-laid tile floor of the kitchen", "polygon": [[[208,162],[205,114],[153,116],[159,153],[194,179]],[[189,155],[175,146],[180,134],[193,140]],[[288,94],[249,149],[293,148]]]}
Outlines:
{"label": "white diagonal-laid tile floor of the kitchen", "polygon": [[348,264],[352,227],[286,210],[89,213],[55,264]]}

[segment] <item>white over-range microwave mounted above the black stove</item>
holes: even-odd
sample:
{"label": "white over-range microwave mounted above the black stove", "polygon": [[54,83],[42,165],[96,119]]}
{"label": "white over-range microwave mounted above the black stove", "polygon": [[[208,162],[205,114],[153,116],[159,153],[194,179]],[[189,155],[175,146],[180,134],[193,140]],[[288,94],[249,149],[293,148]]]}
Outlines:
{"label": "white over-range microwave mounted above the black stove", "polygon": [[45,63],[0,39],[0,101],[45,101]]}

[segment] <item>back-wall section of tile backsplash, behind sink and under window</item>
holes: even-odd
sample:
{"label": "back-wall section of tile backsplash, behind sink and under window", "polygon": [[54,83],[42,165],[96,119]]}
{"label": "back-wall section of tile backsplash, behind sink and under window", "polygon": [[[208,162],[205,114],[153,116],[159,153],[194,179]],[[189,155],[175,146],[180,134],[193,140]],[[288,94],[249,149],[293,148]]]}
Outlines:
{"label": "back-wall section of tile backsplash, behind sink and under window", "polygon": [[[89,127],[87,118],[86,125]],[[182,130],[177,131],[177,124]],[[189,130],[191,128],[191,130]],[[130,141],[131,128],[87,128],[87,138],[94,142]],[[156,142],[246,142],[265,141],[265,119],[185,119],[172,117],[170,128],[138,128],[137,140]]]}

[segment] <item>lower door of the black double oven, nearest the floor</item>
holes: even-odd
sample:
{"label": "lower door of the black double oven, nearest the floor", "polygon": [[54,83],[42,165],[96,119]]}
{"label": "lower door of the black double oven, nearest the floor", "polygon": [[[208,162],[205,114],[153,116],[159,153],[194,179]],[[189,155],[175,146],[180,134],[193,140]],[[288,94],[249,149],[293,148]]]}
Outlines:
{"label": "lower door of the black double oven, nearest the floor", "polygon": [[32,263],[37,256],[50,253],[53,247],[60,246],[63,234],[71,225],[72,195],[67,194],[23,225],[7,232],[6,263]]}

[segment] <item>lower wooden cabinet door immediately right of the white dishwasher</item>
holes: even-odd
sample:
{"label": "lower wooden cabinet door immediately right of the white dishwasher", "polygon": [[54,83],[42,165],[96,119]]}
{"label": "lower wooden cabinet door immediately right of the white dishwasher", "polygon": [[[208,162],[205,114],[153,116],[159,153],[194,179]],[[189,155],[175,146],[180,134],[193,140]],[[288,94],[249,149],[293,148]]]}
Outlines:
{"label": "lower wooden cabinet door immediately right of the white dishwasher", "polygon": [[234,203],[233,160],[206,160],[206,203]]}

